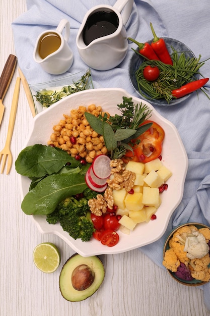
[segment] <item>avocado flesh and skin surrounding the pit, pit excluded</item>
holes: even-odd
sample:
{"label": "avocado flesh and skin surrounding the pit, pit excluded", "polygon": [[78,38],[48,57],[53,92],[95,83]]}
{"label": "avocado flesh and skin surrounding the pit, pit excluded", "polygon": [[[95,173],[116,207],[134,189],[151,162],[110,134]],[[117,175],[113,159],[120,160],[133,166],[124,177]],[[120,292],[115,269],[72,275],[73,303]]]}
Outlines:
{"label": "avocado flesh and skin surrounding the pit, pit excluded", "polygon": [[[95,273],[93,284],[86,290],[78,291],[72,285],[72,273],[80,265],[89,266]],[[63,298],[67,301],[78,302],[93,295],[103,283],[105,269],[98,256],[83,257],[78,253],[67,259],[59,276],[59,289]]]}

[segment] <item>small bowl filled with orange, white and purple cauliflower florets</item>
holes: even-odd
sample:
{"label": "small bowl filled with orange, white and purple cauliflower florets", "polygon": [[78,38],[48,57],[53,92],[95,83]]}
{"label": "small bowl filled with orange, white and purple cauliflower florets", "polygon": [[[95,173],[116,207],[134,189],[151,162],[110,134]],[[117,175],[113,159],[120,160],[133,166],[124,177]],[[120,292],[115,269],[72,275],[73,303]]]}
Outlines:
{"label": "small bowl filled with orange, white and purple cauliflower florets", "polygon": [[210,227],[187,223],[176,227],[163,249],[163,266],[181,284],[200,286],[210,280]]}

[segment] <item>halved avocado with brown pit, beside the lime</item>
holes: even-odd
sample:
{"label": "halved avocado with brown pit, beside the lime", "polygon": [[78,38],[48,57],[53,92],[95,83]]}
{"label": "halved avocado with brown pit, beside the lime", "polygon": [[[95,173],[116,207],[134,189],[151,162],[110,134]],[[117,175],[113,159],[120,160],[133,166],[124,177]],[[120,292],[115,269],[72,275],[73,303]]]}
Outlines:
{"label": "halved avocado with brown pit, beside the lime", "polygon": [[104,276],[104,266],[98,256],[83,257],[75,253],[60,272],[60,292],[68,301],[82,301],[98,290]]}

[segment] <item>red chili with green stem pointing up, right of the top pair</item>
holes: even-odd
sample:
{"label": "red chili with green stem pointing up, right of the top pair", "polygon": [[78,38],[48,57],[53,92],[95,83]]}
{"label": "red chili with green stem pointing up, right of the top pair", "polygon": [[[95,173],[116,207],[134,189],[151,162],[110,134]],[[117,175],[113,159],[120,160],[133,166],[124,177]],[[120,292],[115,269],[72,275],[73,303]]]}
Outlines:
{"label": "red chili with green stem pointing up, right of the top pair", "polygon": [[159,57],[160,61],[167,65],[173,65],[173,61],[169,54],[168,48],[166,47],[165,40],[163,38],[159,38],[153,28],[152,23],[150,23],[151,30],[153,32],[153,42],[151,46],[153,47],[154,51],[156,52],[157,56]]}

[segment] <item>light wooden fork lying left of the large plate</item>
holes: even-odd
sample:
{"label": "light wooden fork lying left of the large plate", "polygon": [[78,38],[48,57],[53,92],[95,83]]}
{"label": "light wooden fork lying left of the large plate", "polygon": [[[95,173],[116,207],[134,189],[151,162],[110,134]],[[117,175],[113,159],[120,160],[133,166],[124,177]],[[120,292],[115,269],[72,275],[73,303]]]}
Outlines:
{"label": "light wooden fork lying left of the large plate", "polygon": [[12,152],[10,150],[10,144],[11,144],[14,125],[15,125],[19,91],[20,91],[20,77],[17,78],[16,84],[15,84],[15,90],[14,90],[14,94],[13,94],[13,100],[12,100],[12,106],[11,106],[11,112],[10,112],[10,120],[9,120],[9,126],[8,126],[8,134],[7,134],[5,147],[0,152],[0,164],[1,164],[2,158],[3,158],[3,165],[2,165],[1,173],[4,172],[6,161],[8,158],[7,175],[9,174],[9,172],[11,170],[12,162],[13,162],[13,156],[12,156]]}

